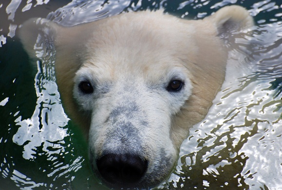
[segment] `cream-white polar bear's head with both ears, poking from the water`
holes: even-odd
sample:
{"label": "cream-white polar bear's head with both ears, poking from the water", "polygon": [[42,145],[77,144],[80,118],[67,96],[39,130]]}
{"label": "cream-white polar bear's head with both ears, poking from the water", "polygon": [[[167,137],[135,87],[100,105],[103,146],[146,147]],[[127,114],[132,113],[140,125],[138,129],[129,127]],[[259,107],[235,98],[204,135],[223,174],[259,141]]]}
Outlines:
{"label": "cream-white polar bear's head with both ears, poking from the water", "polygon": [[20,29],[31,58],[56,50],[67,114],[89,135],[89,157],[109,187],[149,188],[173,168],[188,128],[207,114],[224,81],[231,36],[253,20],[236,5],[203,20],[159,11],[63,27],[33,19]]}

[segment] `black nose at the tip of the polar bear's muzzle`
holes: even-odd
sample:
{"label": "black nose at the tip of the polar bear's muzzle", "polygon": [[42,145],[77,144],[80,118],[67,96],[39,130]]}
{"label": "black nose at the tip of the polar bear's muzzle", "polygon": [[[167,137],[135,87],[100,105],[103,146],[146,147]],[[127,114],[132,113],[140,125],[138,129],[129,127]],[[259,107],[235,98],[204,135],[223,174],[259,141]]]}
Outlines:
{"label": "black nose at the tip of the polar bear's muzzle", "polygon": [[148,167],[147,160],[131,154],[106,154],[96,164],[107,182],[125,187],[140,181]]}

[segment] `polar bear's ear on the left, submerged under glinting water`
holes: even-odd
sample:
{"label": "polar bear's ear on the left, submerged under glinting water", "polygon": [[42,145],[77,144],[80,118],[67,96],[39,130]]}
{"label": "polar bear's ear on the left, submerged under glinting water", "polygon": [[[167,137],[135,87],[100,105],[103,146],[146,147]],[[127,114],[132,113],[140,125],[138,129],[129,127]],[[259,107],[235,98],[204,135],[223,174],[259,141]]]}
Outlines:
{"label": "polar bear's ear on the left, submerged under glinting water", "polygon": [[30,58],[44,56],[53,48],[58,24],[47,19],[33,18],[25,21],[19,29],[19,39]]}

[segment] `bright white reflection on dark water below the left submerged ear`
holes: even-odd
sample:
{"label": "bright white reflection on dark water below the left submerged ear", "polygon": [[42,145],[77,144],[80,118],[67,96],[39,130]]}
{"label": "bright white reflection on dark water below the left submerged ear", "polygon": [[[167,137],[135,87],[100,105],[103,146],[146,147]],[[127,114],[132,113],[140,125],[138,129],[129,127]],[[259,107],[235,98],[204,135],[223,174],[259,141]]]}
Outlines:
{"label": "bright white reflection on dark water below the left submerged ear", "polygon": [[[48,56],[44,59],[48,59]],[[52,154],[59,153],[64,149],[64,146],[61,145],[64,144],[64,137],[68,136],[67,128],[63,127],[67,125],[69,119],[60,103],[54,80],[53,64],[41,66],[38,62],[38,73],[35,79],[38,100],[34,114],[30,119],[21,120],[21,116],[19,116],[15,120],[16,125],[20,127],[13,137],[13,142],[24,145],[23,158],[27,160],[34,159],[36,147],[42,144],[43,150],[47,153],[51,154],[47,148],[54,148],[54,146],[56,146],[56,152],[52,152]]]}

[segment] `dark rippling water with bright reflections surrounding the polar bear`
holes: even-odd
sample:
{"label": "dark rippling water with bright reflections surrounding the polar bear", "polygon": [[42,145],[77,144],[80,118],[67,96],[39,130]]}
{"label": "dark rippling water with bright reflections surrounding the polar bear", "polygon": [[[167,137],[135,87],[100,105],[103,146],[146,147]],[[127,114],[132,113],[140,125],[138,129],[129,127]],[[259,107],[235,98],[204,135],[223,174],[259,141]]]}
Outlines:
{"label": "dark rippling water with bright reflections surrounding the polar bear", "polygon": [[[247,8],[256,27],[236,39],[206,118],[189,129],[179,160],[156,189],[282,189],[282,5],[279,0],[0,1],[0,190],[107,189],[88,164],[87,142],[64,113],[54,60],[32,66],[17,38],[20,24],[43,17],[71,26],[123,11],[164,8],[201,19],[222,6]],[[239,60],[238,60],[239,59]]]}

